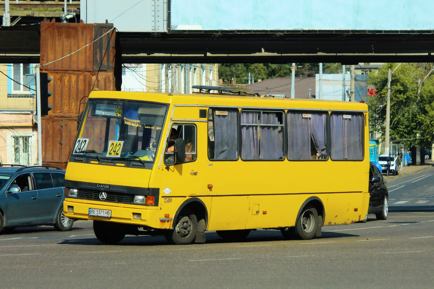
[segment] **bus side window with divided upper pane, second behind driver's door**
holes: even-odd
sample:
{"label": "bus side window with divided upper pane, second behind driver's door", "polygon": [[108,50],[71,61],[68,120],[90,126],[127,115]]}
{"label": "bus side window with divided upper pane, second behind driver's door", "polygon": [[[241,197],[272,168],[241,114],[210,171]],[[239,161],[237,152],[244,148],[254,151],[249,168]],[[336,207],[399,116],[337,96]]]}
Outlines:
{"label": "bus side window with divided upper pane, second behind driver's door", "polygon": [[283,112],[241,111],[241,158],[283,160]]}

